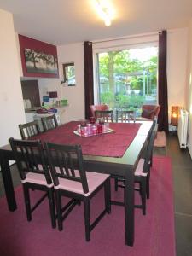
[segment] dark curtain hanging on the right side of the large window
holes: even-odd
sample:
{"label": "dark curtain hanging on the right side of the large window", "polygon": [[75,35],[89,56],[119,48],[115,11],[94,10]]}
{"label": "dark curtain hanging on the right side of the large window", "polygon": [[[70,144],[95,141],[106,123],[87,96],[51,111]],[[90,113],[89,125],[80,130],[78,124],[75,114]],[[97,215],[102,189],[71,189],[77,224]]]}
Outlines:
{"label": "dark curtain hanging on the right side of the large window", "polygon": [[159,131],[168,132],[168,100],[166,79],[166,31],[159,33],[158,90],[160,113],[158,116]]}

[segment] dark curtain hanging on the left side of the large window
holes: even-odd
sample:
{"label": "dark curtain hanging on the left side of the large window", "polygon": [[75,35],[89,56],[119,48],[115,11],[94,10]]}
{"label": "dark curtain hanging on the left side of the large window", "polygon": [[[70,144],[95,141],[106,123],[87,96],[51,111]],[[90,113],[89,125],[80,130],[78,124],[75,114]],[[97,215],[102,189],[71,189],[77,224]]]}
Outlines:
{"label": "dark curtain hanging on the left side of the large window", "polygon": [[85,119],[91,116],[90,105],[94,104],[93,91],[93,51],[92,43],[84,42],[84,105]]}

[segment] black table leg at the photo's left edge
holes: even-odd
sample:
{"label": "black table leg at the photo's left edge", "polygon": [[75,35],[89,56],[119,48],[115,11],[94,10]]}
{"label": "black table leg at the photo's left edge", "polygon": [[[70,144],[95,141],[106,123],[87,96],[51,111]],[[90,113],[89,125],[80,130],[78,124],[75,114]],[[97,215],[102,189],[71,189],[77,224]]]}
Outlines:
{"label": "black table leg at the photo's left edge", "polygon": [[8,202],[9,211],[14,212],[17,208],[15,200],[15,191],[13,181],[10,173],[9,160],[4,158],[1,154],[1,171],[3,177],[3,184],[5,189],[5,195]]}

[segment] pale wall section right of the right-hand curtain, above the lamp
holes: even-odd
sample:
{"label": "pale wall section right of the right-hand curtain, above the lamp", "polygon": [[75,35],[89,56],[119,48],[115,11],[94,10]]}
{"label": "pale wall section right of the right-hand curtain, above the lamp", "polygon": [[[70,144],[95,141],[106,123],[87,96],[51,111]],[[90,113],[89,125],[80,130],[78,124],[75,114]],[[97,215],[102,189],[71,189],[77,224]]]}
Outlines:
{"label": "pale wall section right of the right-hand curtain, above the lamp", "polygon": [[169,113],[172,106],[186,108],[188,28],[167,32],[167,85]]}

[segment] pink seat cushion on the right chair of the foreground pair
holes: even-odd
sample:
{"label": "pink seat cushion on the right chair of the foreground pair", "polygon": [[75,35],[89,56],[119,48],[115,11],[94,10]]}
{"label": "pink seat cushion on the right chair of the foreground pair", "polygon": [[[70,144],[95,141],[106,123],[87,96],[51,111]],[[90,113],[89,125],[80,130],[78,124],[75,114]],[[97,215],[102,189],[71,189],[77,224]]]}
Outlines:
{"label": "pink seat cushion on the right chair of the foreground pair", "polygon": [[[79,172],[79,171],[76,171]],[[77,175],[78,176],[78,175]],[[71,191],[84,196],[89,196],[93,191],[96,190],[108,177],[108,174],[97,173],[97,172],[86,172],[87,183],[89,192],[84,194],[82,183],[68,180],[66,178],[59,177],[59,185],[55,186],[55,189],[63,189]]]}

